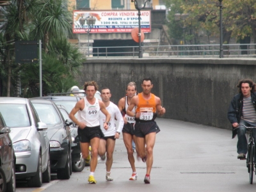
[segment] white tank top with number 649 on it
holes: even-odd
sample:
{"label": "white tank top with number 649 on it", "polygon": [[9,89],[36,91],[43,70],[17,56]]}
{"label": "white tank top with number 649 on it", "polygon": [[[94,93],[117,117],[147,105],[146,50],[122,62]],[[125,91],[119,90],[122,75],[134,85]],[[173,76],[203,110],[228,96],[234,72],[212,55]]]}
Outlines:
{"label": "white tank top with number 649 on it", "polygon": [[86,97],[84,97],[84,109],[77,111],[77,120],[79,120],[79,122],[85,122],[86,127],[99,126],[99,112],[99,100],[95,97],[95,103],[90,104]]}

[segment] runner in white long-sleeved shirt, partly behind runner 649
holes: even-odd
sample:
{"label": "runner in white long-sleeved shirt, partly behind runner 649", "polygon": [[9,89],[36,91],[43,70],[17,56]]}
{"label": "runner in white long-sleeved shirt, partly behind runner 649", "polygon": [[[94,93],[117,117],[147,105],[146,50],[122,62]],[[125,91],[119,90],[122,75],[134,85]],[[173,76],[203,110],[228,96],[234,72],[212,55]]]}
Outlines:
{"label": "runner in white long-sleeved shirt, partly behind runner 649", "polygon": [[[113,152],[115,148],[115,140],[119,139],[120,132],[124,126],[124,120],[122,114],[120,113],[118,107],[110,101],[111,92],[109,88],[102,88],[101,90],[102,102],[105,104],[108,113],[111,118],[108,123],[108,130],[104,129],[104,122],[106,122],[106,116],[100,111],[100,129],[104,134],[103,138],[100,138],[99,145],[99,156],[102,160],[106,159],[106,180],[113,181],[110,176],[111,166],[113,164]],[[118,128],[115,127],[115,119],[118,122]],[[107,155],[106,155],[107,154]]]}

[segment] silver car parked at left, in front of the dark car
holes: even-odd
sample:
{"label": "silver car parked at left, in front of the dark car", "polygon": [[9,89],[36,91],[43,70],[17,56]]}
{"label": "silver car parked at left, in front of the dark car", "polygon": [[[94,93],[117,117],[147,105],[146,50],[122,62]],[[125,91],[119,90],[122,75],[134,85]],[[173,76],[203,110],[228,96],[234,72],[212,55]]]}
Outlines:
{"label": "silver car parked at left, in front of the dark car", "polygon": [[40,187],[42,182],[50,182],[47,125],[40,121],[29,99],[0,97],[0,112],[6,126],[11,129],[16,180],[28,181],[29,187]]}

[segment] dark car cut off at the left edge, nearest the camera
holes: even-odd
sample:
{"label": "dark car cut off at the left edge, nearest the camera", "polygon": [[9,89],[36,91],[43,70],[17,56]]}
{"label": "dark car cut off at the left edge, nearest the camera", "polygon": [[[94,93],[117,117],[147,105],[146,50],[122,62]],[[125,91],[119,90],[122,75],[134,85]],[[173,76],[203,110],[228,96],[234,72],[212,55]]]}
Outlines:
{"label": "dark car cut off at the left edge, nearest the camera", "polygon": [[0,113],[0,191],[6,192],[13,192],[16,189],[15,154],[10,131]]}

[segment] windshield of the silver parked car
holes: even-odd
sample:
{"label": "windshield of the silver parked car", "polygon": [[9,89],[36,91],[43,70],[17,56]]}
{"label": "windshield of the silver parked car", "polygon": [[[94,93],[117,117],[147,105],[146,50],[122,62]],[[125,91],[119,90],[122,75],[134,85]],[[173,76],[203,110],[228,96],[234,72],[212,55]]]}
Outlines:
{"label": "windshield of the silver parked car", "polygon": [[0,112],[8,127],[30,126],[26,104],[0,104]]}

